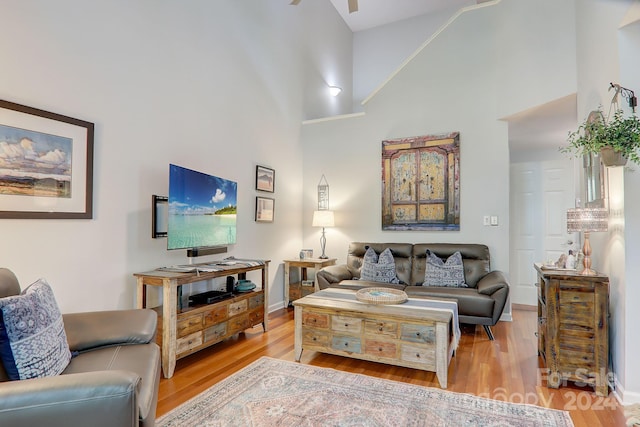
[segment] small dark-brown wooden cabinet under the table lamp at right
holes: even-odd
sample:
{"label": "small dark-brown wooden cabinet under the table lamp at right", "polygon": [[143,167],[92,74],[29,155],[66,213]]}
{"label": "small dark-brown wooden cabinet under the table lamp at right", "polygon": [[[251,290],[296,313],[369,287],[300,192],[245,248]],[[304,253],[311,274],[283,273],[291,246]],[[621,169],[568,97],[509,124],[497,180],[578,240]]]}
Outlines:
{"label": "small dark-brown wooden cabinet under the table lamp at right", "polygon": [[538,272],[538,354],[547,386],[564,381],[590,384],[607,396],[609,366],[609,279],[570,270]]}

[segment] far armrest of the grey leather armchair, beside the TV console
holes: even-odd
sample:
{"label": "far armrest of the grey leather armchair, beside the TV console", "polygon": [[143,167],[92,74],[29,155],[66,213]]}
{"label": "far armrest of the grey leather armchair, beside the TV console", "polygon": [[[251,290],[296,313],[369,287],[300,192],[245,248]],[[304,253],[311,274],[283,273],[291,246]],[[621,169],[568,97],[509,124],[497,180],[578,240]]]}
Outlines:
{"label": "far armrest of the grey leather armchair, beside the TV console", "polygon": [[158,315],[150,309],[62,315],[71,351],[118,344],[147,344],[155,338]]}

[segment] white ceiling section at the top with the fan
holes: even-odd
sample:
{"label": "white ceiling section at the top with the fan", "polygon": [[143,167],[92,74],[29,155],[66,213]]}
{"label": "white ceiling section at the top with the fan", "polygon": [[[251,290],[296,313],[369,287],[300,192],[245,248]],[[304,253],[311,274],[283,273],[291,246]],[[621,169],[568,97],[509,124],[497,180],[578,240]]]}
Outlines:
{"label": "white ceiling section at the top with the fan", "polygon": [[462,8],[470,0],[358,0],[358,11],[349,13],[348,0],[331,0],[351,31],[367,30],[443,9]]}

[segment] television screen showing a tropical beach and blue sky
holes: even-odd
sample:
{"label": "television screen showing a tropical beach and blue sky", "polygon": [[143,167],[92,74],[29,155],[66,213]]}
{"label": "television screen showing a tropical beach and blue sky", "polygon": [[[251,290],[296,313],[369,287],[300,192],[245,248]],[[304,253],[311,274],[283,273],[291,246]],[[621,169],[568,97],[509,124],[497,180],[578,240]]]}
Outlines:
{"label": "television screen showing a tropical beach and blue sky", "polygon": [[167,249],[236,243],[238,184],[169,165]]}

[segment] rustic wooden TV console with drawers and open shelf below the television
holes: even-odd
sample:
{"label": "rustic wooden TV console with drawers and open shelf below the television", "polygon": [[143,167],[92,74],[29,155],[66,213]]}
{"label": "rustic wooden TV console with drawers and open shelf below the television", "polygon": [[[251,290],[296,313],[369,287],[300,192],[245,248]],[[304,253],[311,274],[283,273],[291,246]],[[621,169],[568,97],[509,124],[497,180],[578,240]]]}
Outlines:
{"label": "rustic wooden TV console with drawers and open shelf below the television", "polygon": [[[197,267],[198,265],[194,265],[194,268]],[[162,288],[163,304],[154,310],[159,316],[157,342],[162,348],[162,371],[165,378],[173,376],[177,359],[260,323],[264,331],[268,330],[269,261],[227,262],[221,264],[219,271],[210,271],[210,264],[207,267],[207,271],[185,273],[158,269],[134,274],[137,279],[138,308],[145,308],[147,305],[147,286]],[[182,285],[231,275],[246,279],[247,272],[254,270],[262,273],[262,286],[255,291],[234,294],[232,298],[220,302],[193,307],[183,307],[179,300]]]}

